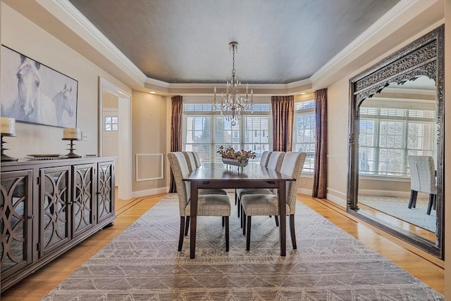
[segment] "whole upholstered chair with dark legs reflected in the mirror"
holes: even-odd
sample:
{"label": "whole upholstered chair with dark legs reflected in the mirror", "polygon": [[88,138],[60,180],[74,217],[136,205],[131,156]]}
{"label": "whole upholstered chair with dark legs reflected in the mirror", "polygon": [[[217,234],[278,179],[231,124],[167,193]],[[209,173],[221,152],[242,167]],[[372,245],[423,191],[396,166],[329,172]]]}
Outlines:
{"label": "whole upholstered chair with dark legs reflected in the mirror", "polygon": [[408,155],[407,162],[410,167],[409,209],[416,206],[416,196],[419,192],[428,193],[429,203],[426,214],[431,214],[437,201],[434,159],[429,155]]}

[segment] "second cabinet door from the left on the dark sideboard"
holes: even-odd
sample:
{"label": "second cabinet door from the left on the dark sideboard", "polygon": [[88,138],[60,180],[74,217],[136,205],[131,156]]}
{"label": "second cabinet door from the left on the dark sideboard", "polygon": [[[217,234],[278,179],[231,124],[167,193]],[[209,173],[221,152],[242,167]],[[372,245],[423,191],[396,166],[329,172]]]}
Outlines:
{"label": "second cabinet door from the left on the dark sideboard", "polygon": [[41,256],[57,250],[70,239],[70,166],[39,171]]}

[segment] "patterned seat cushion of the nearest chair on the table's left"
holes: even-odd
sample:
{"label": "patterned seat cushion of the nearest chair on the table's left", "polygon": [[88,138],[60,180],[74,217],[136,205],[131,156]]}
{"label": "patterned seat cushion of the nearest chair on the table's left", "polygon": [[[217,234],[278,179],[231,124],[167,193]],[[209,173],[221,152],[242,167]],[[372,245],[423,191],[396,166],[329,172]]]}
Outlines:
{"label": "patterned seat cushion of the nearest chair on the table's left", "polygon": [[[182,216],[189,216],[191,210],[191,201],[185,207]],[[197,197],[197,215],[228,217],[230,216],[230,199],[228,196],[217,194],[205,194]]]}

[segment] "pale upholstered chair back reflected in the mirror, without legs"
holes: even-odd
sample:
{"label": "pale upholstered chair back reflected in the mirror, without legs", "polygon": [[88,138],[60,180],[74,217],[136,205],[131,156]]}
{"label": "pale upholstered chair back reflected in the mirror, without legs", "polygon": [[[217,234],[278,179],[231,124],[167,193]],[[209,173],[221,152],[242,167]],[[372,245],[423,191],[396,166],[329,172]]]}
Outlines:
{"label": "pale upholstered chair back reflected in the mirror, without legs", "polygon": [[435,165],[430,155],[408,155],[410,189],[422,193],[437,194]]}

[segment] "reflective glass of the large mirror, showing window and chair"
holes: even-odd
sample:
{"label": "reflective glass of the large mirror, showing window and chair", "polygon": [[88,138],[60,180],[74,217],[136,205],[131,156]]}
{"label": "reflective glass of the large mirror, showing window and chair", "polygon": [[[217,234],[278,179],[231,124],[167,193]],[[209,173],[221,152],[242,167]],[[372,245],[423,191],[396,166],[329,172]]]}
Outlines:
{"label": "reflective glass of the large mirror, showing window and chair", "polygon": [[431,242],[437,230],[435,96],[435,82],[426,76],[389,84],[360,105],[358,136],[360,210]]}

